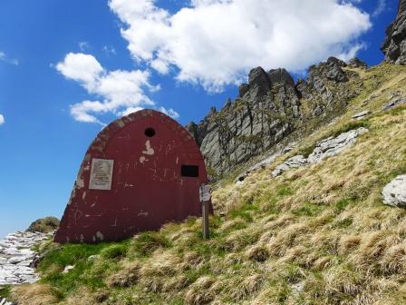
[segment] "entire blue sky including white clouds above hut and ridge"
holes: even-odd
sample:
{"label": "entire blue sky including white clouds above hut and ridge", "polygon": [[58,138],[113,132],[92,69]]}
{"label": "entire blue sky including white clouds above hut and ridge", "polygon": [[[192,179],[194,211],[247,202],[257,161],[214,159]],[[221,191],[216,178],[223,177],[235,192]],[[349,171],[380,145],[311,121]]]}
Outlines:
{"label": "entire blue sky including white clouds above hut and ridge", "polygon": [[331,54],[379,64],[398,5],[280,3],[2,0],[0,237],[62,216],[102,124],[149,107],[198,122],[257,65],[297,78]]}

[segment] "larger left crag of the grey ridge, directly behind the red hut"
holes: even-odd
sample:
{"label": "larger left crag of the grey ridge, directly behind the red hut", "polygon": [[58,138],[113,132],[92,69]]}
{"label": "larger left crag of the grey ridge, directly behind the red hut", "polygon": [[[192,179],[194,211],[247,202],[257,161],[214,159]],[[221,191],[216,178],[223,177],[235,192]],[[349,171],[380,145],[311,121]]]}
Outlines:
{"label": "larger left crag of the grey ridge, directly behind the red hut", "polygon": [[208,166],[223,173],[281,141],[300,120],[299,93],[285,69],[249,74],[234,103],[210,112],[189,131],[200,144]]}

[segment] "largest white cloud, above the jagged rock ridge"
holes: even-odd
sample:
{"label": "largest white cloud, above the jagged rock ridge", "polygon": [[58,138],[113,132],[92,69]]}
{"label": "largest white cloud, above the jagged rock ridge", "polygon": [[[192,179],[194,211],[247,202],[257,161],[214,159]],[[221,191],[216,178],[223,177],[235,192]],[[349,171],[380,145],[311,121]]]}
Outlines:
{"label": "largest white cloud, above the jagged rock ridge", "polygon": [[342,0],[191,0],[175,14],[154,0],[110,0],[131,55],[160,74],[220,91],[249,69],[300,72],[330,55],[347,58],[370,16]]}

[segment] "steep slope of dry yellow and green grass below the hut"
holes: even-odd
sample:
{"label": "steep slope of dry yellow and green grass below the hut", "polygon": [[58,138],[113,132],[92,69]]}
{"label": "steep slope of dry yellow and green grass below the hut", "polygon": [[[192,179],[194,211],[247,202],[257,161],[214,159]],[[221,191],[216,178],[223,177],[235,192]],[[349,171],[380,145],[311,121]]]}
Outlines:
{"label": "steep slope of dry yellow and green grass below the hut", "polygon": [[[198,219],[120,243],[56,245],[43,280],[15,287],[20,304],[401,304],[406,302],[406,212],[381,190],[406,172],[406,106],[381,112],[406,88],[406,67],[362,72],[364,90],[335,123],[305,139],[241,186],[214,193],[212,238]],[[378,97],[364,107],[371,94]],[[403,91],[403,94],[406,92]],[[369,109],[361,123],[351,115]],[[279,162],[362,124],[351,149],[271,179]],[[97,255],[89,259],[89,256]],[[63,268],[75,265],[63,274]]]}

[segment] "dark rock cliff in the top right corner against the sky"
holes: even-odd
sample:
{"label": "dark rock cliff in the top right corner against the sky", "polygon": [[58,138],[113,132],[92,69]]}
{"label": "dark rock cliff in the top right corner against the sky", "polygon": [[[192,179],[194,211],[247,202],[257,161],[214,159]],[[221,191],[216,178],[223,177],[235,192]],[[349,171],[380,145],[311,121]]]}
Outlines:
{"label": "dark rock cliff in the top right corner against the sky", "polygon": [[406,64],[406,0],[400,0],[398,15],[386,29],[386,39],[381,49],[385,62]]}

